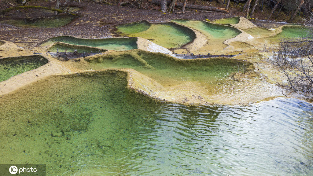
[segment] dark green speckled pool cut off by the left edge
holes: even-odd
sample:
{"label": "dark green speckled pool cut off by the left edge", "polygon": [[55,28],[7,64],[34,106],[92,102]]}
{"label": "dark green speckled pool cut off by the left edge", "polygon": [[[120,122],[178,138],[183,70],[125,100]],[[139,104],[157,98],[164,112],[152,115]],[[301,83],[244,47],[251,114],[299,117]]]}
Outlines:
{"label": "dark green speckled pool cut off by the left edge", "polygon": [[22,56],[0,59],[0,82],[23,72],[36,69],[49,61],[42,56]]}

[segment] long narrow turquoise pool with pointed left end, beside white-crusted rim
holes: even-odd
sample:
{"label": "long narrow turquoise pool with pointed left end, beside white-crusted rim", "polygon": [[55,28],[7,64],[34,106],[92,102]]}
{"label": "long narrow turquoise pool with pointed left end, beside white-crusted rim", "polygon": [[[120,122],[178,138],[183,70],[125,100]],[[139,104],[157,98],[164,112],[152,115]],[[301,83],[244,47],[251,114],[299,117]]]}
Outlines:
{"label": "long narrow turquoise pool with pointed left end, beside white-crusted rim", "polygon": [[107,38],[107,39],[80,39],[72,36],[60,36],[50,38],[40,46],[48,46],[55,42],[63,42],[74,45],[92,46],[108,50],[130,50],[137,49],[137,38]]}

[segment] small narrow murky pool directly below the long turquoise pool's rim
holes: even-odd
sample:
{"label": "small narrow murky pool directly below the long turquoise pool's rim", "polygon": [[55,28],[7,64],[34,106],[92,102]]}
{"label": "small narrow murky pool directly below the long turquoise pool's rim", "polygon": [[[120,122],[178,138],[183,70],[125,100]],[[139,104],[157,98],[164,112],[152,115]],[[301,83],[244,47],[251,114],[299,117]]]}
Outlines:
{"label": "small narrow murky pool directly below the long turquoise pool's rim", "polygon": [[57,52],[57,49],[59,49],[59,52],[65,52],[67,49],[67,52],[74,52],[75,49],[77,49],[78,53],[99,53],[103,52],[104,49],[97,49],[97,48],[92,48],[92,47],[80,47],[80,46],[73,46],[73,45],[61,45],[61,44],[56,44],[52,47],[49,48],[51,52]]}

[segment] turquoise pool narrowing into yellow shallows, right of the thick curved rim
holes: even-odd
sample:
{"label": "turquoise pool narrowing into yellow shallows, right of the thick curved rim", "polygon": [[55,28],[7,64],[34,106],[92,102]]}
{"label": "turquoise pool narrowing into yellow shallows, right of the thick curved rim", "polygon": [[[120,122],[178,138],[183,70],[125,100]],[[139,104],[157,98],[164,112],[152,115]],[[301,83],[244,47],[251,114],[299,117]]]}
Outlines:
{"label": "turquoise pool narrowing into yellow shallows, right of the thick curved rim", "polygon": [[172,21],[196,29],[207,36],[208,43],[199,51],[203,54],[207,54],[209,51],[223,50],[227,47],[226,44],[223,44],[225,40],[232,39],[241,33],[238,29],[230,26],[223,26],[199,20],[175,19]]}

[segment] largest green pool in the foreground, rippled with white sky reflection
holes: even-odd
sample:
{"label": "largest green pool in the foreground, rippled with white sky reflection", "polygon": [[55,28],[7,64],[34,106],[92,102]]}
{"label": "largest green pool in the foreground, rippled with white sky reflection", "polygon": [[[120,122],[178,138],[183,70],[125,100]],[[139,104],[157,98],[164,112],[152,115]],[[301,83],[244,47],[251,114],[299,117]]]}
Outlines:
{"label": "largest green pool in the foreground, rippled with white sky reflection", "polygon": [[0,97],[0,163],[50,175],[313,174],[312,104],[183,106],[127,90],[126,73],[50,76]]}

